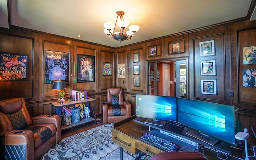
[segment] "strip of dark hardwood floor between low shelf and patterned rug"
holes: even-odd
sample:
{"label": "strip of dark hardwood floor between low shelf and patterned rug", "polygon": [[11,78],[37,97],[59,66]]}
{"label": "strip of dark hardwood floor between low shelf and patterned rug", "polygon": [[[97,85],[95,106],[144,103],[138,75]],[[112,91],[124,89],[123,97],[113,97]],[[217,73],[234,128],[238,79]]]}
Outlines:
{"label": "strip of dark hardwood floor between low shelf and patterned rug", "polygon": [[66,138],[68,136],[72,136],[74,134],[80,133],[84,130],[88,130],[88,129],[91,129],[91,128],[94,128],[96,126],[101,125],[102,120],[98,120],[98,121],[100,121],[100,123],[98,123],[98,124],[97,123],[95,124],[94,121],[93,121],[93,122],[82,124],[80,126],[75,126],[73,128],[68,128],[66,130],[62,130],[61,131],[61,138]]}

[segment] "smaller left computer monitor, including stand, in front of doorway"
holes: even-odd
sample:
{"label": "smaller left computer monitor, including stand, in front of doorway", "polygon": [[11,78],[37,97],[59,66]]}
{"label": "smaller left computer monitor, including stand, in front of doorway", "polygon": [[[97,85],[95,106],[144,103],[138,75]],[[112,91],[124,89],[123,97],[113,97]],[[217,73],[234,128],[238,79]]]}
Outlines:
{"label": "smaller left computer monitor, including stand, in front of doorway", "polygon": [[177,98],[156,95],[136,95],[136,116],[147,118],[146,123],[164,126],[177,120]]}

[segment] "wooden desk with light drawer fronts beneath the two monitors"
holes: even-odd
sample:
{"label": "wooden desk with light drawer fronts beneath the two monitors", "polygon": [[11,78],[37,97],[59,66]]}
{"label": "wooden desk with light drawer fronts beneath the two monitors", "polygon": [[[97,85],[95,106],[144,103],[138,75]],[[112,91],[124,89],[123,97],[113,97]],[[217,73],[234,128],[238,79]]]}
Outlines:
{"label": "wooden desk with light drawer fronts beneath the two monitors", "polygon": [[[118,122],[114,124],[114,128],[112,129],[112,140],[114,143],[118,144],[120,146],[120,159],[122,160],[122,150],[123,148],[127,150],[128,152],[132,154],[137,154],[138,152],[142,151],[150,156],[153,156],[154,154],[164,152],[163,150],[160,150],[150,144],[147,144],[145,142],[142,142],[139,138],[145,133],[149,132],[149,128],[147,125],[141,124],[139,122],[136,122],[134,120],[136,118],[135,116],[131,117],[130,119],[126,119],[122,122]],[[160,131],[155,128],[151,128],[150,132],[159,132],[159,136],[162,137],[164,135],[160,135]],[[170,139],[168,139],[170,140]],[[173,142],[172,140],[170,140]],[[202,152],[209,160],[216,160],[218,159],[217,154],[218,152],[214,152],[213,150],[209,149],[199,149],[196,150],[196,147],[186,144],[184,142],[178,142],[174,140],[174,143],[178,144],[179,148],[187,148],[186,151],[194,151],[194,152]],[[231,155],[243,158],[244,159],[244,150],[242,151],[236,151],[231,150]],[[252,154],[249,154],[252,155]],[[220,154],[221,158],[225,158],[224,154]],[[250,158],[255,159],[255,158]],[[236,158],[233,158],[231,156],[228,156],[227,160],[237,160]]]}

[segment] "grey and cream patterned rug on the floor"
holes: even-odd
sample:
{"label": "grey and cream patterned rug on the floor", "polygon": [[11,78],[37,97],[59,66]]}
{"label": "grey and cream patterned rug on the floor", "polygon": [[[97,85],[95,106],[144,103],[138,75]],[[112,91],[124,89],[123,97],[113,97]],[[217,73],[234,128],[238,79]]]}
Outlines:
{"label": "grey and cream patterned rug on the floor", "polygon": [[[62,139],[40,158],[40,160],[118,160],[120,147],[112,142],[113,124],[102,124],[90,130]],[[133,155],[123,150],[124,160],[150,160],[151,156],[140,152]]]}

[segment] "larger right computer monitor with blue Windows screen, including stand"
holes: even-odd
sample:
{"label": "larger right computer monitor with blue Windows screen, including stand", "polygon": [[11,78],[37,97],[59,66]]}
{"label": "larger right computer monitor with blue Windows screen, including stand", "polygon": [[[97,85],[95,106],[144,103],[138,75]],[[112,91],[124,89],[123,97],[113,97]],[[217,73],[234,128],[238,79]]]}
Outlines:
{"label": "larger right computer monitor with blue Windows screen, including stand", "polygon": [[236,145],[235,107],[177,98],[177,122],[192,128],[186,134],[210,145],[219,140]]}

